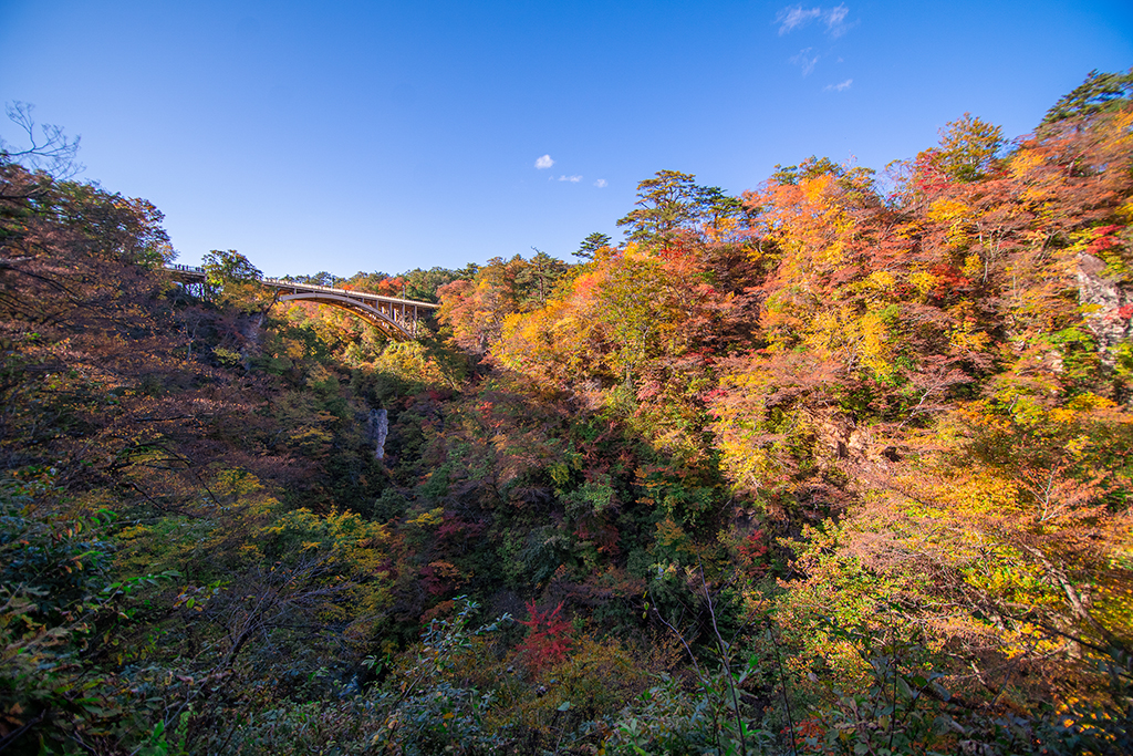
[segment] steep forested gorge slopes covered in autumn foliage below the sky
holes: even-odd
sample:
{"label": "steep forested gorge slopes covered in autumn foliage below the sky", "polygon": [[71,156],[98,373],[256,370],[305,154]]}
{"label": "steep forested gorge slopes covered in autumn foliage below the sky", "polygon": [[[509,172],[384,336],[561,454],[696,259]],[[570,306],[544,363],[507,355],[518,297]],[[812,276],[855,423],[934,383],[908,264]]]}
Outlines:
{"label": "steep forested gorge slopes covered in autumn foliage below the sky", "polygon": [[1133,749],[1133,84],[278,303],[0,160],[0,750]]}

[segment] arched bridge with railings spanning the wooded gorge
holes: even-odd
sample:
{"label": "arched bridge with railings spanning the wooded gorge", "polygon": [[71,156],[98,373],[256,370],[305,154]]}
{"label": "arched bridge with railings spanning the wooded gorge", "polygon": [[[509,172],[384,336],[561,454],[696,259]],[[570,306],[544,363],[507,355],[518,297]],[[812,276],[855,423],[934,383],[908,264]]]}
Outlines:
{"label": "arched bridge with railings spanning the wooded gorge", "polygon": [[[194,265],[167,265],[173,280],[204,287],[207,273]],[[275,289],[275,301],[313,301],[344,309],[382,330],[391,339],[407,341],[417,337],[417,321],[441,305],[414,301],[397,297],[383,297],[367,291],[334,289],[329,286],[298,283],[282,279],[264,278],[259,286]]]}

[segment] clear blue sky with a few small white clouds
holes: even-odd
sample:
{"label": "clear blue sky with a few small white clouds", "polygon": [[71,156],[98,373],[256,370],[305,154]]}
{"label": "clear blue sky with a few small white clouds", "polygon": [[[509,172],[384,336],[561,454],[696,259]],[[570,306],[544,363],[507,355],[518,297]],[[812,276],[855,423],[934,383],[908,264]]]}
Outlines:
{"label": "clear blue sky with a few small white clouds", "polygon": [[156,204],[180,262],[273,275],[570,260],[658,170],[880,169],[1130,66],[1127,0],[0,0],[0,99],[82,135],[80,178]]}

